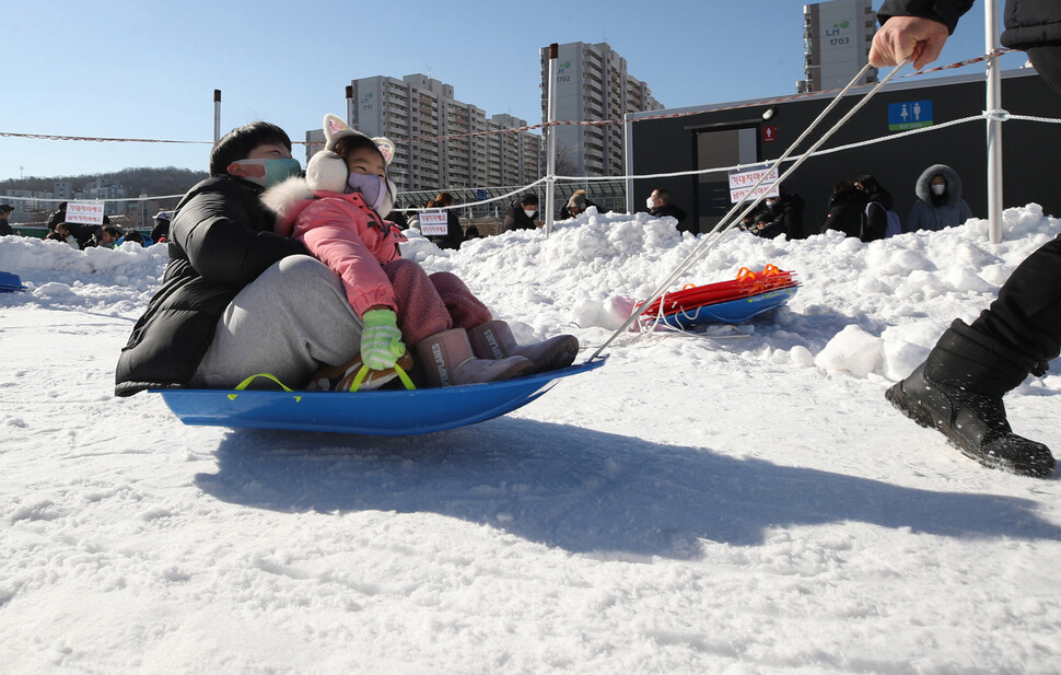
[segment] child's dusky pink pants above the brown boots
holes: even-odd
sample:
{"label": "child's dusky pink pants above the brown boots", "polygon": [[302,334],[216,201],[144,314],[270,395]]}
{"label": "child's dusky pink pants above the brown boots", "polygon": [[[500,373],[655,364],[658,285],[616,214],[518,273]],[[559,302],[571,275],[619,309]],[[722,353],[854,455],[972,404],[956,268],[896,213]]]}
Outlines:
{"label": "child's dusky pink pants above the brown boots", "polygon": [[398,304],[398,330],[406,345],[450,328],[474,328],[490,321],[490,310],[471,294],[456,275],[430,277],[417,263],[398,259],[383,266]]}

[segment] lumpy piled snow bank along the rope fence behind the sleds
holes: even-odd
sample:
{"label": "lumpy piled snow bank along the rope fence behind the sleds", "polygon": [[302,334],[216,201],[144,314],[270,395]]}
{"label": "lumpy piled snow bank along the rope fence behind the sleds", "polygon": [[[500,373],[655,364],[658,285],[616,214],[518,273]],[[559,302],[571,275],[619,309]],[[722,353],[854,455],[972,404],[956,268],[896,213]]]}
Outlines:
{"label": "lumpy piled snow bank along the rope fence behind the sleds", "polygon": [[[1000,244],[990,243],[988,221],[976,219],[870,244],[831,231],[786,241],[734,230],[671,290],[734,279],[742,267],[773,264],[793,271],[798,292],[786,307],[754,319],[756,348],[745,353],[894,381],[924,358],[952,319],[972,321],[1025,257],[1061,233],[1061,221],[1031,203],[1007,209],[1003,228]],[[429,271],[457,274],[494,315],[511,319],[520,339],[573,327],[606,336],[704,236],[679,233],[671,219],[596,209],[558,222],[550,236],[510,232],[459,251],[442,251],[417,230],[406,234],[406,257]],[[136,313],[159,288],[166,260],[166,247],[158,244],[75,251],[3,237],[0,270],[20,275],[28,290],[0,298],[0,306]]]}

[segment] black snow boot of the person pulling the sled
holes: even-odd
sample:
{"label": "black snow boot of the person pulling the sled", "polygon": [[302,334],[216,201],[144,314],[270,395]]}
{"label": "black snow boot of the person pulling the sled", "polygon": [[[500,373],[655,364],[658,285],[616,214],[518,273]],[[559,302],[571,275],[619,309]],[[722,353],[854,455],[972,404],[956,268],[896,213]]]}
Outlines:
{"label": "black snow boot of the person pulling the sled", "polygon": [[955,321],[925,362],[885,397],[980,464],[1041,478],[1053,473],[1050,449],[1013,433],[1002,403],[1031,368],[1029,359]]}

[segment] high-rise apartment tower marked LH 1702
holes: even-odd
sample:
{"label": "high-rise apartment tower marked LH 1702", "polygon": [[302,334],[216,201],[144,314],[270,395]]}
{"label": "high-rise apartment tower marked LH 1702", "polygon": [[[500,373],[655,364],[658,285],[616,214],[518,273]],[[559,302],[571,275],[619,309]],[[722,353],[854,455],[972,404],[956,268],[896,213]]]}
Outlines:
{"label": "high-rise apartment tower marked LH 1702", "polygon": [[[627,72],[627,60],[607,43],[559,46],[553,96],[557,120],[621,123],[627,113],[660,110],[648,85]],[[543,47],[541,120],[548,121],[549,48]],[[578,176],[623,175],[622,124],[563,125],[557,135],[557,173]]]}

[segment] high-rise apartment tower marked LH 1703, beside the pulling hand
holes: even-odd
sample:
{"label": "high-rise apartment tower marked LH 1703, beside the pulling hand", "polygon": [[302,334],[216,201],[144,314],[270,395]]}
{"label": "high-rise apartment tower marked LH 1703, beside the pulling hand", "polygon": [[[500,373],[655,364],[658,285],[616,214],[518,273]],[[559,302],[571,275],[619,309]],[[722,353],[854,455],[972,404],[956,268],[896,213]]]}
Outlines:
{"label": "high-rise apartment tower marked LH 1703, beside the pulling hand", "polygon": [[[806,79],[800,93],[840,89],[866,65],[876,14],[871,0],[832,0],[803,5],[803,51]],[[871,68],[859,84],[877,81]]]}

